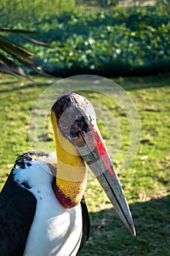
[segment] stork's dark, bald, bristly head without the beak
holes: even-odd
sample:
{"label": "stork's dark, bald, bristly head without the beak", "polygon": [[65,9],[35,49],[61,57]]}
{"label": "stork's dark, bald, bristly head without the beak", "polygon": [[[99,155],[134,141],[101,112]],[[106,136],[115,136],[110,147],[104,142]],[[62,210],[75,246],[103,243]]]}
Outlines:
{"label": "stork's dark, bald, bristly head without the beak", "polygon": [[53,104],[52,111],[57,118],[58,128],[65,138],[77,138],[80,132],[89,131],[90,108],[92,109],[93,106],[88,99],[74,92],[61,95]]}

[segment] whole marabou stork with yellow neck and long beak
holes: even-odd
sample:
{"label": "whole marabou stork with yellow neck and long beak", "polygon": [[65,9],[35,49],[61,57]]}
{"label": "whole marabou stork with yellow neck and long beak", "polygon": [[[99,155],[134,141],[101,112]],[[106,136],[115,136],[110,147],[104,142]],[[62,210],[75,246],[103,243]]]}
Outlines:
{"label": "whole marabou stork with yellow neck and long beak", "polygon": [[22,154],[0,194],[1,256],[74,256],[90,232],[83,197],[86,164],[135,236],[128,203],[96,125],[90,102],[75,93],[53,104],[57,163],[50,155]]}

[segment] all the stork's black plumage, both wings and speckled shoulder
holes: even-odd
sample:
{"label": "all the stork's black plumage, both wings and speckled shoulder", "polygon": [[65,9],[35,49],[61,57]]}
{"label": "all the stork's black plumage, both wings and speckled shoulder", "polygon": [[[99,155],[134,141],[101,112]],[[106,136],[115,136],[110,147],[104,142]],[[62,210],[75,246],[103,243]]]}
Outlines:
{"label": "all the stork's black plumage, both wings and speckled shoulder", "polygon": [[[0,252],[1,256],[23,256],[28,233],[36,212],[36,197],[28,190],[28,183],[18,184],[14,180],[16,167],[30,167],[33,157],[48,157],[42,152],[27,152],[15,161],[0,193]],[[82,238],[80,249],[90,234],[90,219],[84,197],[82,206]],[[57,228],[57,227],[56,227]],[[59,227],[58,227],[59,228]],[[80,252],[79,249],[79,252]]]}

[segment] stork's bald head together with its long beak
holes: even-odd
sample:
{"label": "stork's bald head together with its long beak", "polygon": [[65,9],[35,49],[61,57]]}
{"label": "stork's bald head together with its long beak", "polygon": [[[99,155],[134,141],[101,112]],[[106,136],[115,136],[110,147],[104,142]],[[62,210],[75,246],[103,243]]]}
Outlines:
{"label": "stork's bald head together with its long beak", "polygon": [[[135,236],[128,203],[98,130],[95,111],[88,99],[75,93],[63,94],[52,107],[52,122],[57,141],[57,155],[60,154],[58,143],[62,144],[63,140],[69,143],[70,148],[75,148],[76,155],[93,171],[115,211]],[[58,142],[58,132],[64,138],[60,142]],[[69,148],[64,150],[69,151]]]}

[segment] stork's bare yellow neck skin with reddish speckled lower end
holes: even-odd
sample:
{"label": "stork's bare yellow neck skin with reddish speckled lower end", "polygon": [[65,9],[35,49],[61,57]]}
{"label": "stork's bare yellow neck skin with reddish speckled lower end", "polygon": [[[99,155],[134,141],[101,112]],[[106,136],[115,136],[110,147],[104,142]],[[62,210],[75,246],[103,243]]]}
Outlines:
{"label": "stork's bare yellow neck skin with reddish speckled lower end", "polygon": [[[87,170],[82,157],[77,154],[76,148],[61,135],[54,111],[51,120],[55,134],[57,152],[58,200],[65,208],[72,208],[80,203],[86,187]],[[70,203],[68,203],[70,202]]]}

